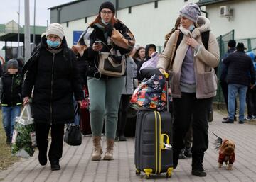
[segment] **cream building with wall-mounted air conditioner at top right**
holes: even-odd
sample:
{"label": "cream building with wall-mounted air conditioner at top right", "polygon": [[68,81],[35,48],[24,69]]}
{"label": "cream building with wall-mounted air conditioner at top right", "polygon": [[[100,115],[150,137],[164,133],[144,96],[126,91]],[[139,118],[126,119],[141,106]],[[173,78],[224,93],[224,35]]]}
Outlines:
{"label": "cream building with wall-mounted air conditioner at top right", "polygon": [[256,38],[255,0],[201,0],[215,35],[235,30],[235,39]]}

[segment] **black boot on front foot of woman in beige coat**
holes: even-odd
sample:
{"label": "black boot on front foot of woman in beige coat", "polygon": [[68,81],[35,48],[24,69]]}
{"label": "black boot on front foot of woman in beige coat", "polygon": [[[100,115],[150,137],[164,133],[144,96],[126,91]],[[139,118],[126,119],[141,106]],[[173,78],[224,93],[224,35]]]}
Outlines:
{"label": "black boot on front foot of woman in beige coat", "polygon": [[206,176],[206,171],[203,169],[203,155],[192,156],[192,175],[195,176]]}

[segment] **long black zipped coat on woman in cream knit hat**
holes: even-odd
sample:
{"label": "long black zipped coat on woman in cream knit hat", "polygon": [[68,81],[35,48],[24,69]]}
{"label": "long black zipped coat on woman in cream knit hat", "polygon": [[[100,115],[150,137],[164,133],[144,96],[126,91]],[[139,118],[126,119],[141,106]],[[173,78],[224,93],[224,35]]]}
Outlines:
{"label": "long black zipped coat on woman in cream knit hat", "polygon": [[46,49],[46,38],[42,38],[39,46],[25,65],[27,72],[23,83],[23,97],[31,96],[34,86],[32,115],[36,122],[72,123],[73,93],[75,100],[83,98],[75,55],[67,47],[65,38],[60,45],[62,50],[58,53]]}

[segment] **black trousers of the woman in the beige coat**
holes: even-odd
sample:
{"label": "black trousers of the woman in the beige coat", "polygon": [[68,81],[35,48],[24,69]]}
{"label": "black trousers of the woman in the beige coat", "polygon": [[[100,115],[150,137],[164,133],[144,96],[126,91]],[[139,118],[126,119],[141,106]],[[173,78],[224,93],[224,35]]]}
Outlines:
{"label": "black trousers of the woman in the beige coat", "polygon": [[174,158],[185,147],[183,139],[191,126],[193,157],[203,156],[208,149],[208,117],[212,100],[197,99],[196,93],[182,93],[181,98],[174,98]]}

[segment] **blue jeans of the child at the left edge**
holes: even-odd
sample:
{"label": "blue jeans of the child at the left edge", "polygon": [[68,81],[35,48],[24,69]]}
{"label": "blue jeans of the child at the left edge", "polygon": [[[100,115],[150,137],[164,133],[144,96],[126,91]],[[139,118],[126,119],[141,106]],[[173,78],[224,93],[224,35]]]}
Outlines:
{"label": "blue jeans of the child at the left edge", "polygon": [[14,132],[15,118],[21,114],[21,106],[2,106],[2,117],[6,137],[12,137]]}

